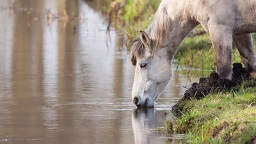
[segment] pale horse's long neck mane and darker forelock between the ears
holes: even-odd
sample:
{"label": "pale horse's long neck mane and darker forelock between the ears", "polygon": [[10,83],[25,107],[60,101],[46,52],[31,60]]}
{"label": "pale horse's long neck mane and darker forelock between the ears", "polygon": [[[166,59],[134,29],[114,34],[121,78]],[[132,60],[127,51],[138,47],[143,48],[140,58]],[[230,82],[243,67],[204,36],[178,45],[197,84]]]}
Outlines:
{"label": "pale horse's long neck mane and darker forelock between the ears", "polygon": [[[168,16],[166,5],[164,3],[159,4],[159,8],[152,20],[152,23],[145,31],[150,37],[150,49],[152,51],[152,55],[157,52],[162,44],[164,39],[167,40],[168,31],[170,29],[170,17]],[[145,52],[145,45],[140,40],[140,37],[136,37],[132,40],[130,46],[131,47],[131,61],[133,65],[136,65],[136,57],[143,56]]]}

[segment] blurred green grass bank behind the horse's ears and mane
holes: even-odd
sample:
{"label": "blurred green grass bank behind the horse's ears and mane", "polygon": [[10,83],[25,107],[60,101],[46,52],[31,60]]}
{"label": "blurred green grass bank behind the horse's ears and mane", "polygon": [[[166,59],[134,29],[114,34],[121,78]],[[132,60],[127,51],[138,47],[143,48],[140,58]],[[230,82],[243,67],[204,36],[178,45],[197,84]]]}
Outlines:
{"label": "blurred green grass bank behind the horse's ears and mane", "polygon": [[118,20],[112,18],[112,23],[117,22],[118,24],[113,25],[124,31],[127,45],[135,38],[137,30],[145,30],[149,26],[160,2],[161,0],[115,0],[109,3],[108,12],[113,10],[113,5],[120,4],[118,12],[113,14],[116,14]]}

